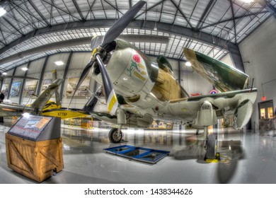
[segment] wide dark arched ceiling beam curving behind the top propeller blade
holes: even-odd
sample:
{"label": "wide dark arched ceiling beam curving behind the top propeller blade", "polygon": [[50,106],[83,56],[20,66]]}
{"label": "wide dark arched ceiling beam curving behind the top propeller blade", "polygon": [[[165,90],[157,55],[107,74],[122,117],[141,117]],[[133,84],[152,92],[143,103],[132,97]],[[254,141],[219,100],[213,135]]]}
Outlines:
{"label": "wide dark arched ceiling beam curving behind the top propeller blade", "polygon": [[[40,28],[33,32],[30,32],[22,37],[14,40],[6,47],[3,47],[0,50],[0,54],[6,52],[7,50],[11,49],[12,47],[16,47],[16,45],[20,44],[21,42],[25,42],[35,36],[46,35],[49,33],[54,32],[62,32],[64,30],[76,30],[76,29],[83,29],[83,28],[110,28],[115,23],[114,19],[103,19],[103,20],[89,20],[89,21],[75,21],[71,23],[62,23],[58,25],[52,25],[51,27]],[[152,27],[155,25],[155,21],[144,21],[144,20],[136,20],[130,22],[127,28],[135,28],[135,29],[145,29],[145,30],[153,30]],[[180,25],[172,25],[168,23],[156,23],[157,28],[160,32],[163,33],[173,33],[175,35],[189,37],[195,40],[200,40],[201,42],[205,42],[208,45],[215,45],[220,48],[224,48],[227,50],[226,40],[209,35],[204,32],[197,32],[192,30],[191,28],[185,28]],[[217,41],[215,44],[213,43],[213,38]],[[229,42],[228,45],[234,45],[234,43]]]}

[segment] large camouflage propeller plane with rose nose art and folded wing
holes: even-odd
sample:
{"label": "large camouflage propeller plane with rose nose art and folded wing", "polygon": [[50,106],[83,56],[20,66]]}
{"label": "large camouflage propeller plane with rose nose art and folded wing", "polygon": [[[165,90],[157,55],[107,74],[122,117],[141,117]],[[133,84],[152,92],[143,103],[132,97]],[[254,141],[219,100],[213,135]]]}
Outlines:
{"label": "large camouflage propeller plane with rose nose art and folded wing", "polygon": [[156,62],[151,62],[137,47],[117,39],[144,4],[146,1],[138,1],[132,6],[108,30],[103,40],[93,37],[92,56],[76,89],[92,69],[93,78],[103,86],[109,113],[91,112],[91,115],[117,124],[117,128],[109,132],[111,142],[122,140],[122,126],[146,128],[153,120],[182,120],[204,129],[206,155],[214,159],[217,135],[208,135],[208,126],[217,124],[217,119],[225,115],[234,115],[234,128],[241,129],[251,118],[257,90],[246,89],[248,76],[241,71],[184,49],[193,69],[222,91],[189,97],[174,78],[171,64],[165,57],[159,56]]}

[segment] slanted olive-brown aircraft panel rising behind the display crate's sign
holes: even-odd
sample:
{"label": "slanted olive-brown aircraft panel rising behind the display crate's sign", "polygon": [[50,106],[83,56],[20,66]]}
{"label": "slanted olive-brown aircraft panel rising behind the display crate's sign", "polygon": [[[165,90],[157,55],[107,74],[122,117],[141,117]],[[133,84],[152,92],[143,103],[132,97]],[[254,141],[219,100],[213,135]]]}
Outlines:
{"label": "slanted olive-brown aircraft panel rising behind the display crate's sign", "polygon": [[35,102],[30,105],[33,107],[36,111],[41,111],[45,105],[47,104],[47,101],[50,100],[52,95],[57,91],[59,86],[62,84],[62,81],[64,79],[57,79],[55,80],[50,86],[48,86],[45,91],[42,91],[42,93],[38,96],[38,98],[35,100]]}

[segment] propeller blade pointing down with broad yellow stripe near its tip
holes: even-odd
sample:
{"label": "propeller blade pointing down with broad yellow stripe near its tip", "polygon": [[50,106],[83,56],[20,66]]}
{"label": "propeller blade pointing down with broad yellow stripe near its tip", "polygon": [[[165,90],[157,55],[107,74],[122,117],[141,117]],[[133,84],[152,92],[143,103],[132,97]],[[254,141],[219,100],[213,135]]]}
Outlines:
{"label": "propeller blade pointing down with broad yellow stripe near its tip", "polygon": [[100,67],[100,74],[103,78],[103,91],[105,92],[105,100],[106,104],[108,105],[108,111],[110,112],[110,115],[115,115],[118,107],[118,101],[113,84],[108,76],[108,71],[106,71],[102,59],[100,58],[100,54],[96,54],[96,59],[98,66]]}

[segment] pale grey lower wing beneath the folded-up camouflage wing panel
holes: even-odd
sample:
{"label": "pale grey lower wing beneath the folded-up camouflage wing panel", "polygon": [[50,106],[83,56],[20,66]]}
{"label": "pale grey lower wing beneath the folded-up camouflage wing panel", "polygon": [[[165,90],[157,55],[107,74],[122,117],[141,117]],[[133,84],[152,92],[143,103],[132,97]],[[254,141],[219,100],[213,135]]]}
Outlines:
{"label": "pale grey lower wing beneath the folded-up camouflage wing panel", "polygon": [[[217,119],[224,115],[234,115],[234,128],[241,129],[250,120],[253,112],[253,103],[257,98],[257,89],[246,89],[241,91],[229,91],[209,95],[200,95],[178,100],[171,100],[168,110],[171,115],[182,117],[183,120],[193,122],[194,126],[209,126],[217,124]],[[213,112],[213,117],[202,117],[207,110],[204,103],[212,105],[208,110]],[[203,112],[203,114],[201,114]],[[202,124],[211,119],[211,123]]]}

